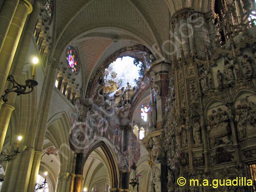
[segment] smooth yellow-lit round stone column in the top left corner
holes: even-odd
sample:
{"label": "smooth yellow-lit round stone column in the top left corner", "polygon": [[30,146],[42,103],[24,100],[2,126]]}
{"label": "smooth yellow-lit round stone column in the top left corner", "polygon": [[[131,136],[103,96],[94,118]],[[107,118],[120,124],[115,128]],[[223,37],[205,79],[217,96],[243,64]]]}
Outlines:
{"label": "smooth yellow-lit round stone column in the top left corner", "polygon": [[[6,79],[11,68],[11,63],[13,62],[13,57],[15,55],[20,35],[24,28],[26,18],[28,14],[32,12],[32,0],[20,0],[13,16],[13,20],[10,24],[9,30],[7,32],[4,44],[2,47],[4,49],[0,52],[1,58],[1,71],[0,71],[0,85],[6,84]],[[0,87],[0,95],[4,92],[4,86]]]}

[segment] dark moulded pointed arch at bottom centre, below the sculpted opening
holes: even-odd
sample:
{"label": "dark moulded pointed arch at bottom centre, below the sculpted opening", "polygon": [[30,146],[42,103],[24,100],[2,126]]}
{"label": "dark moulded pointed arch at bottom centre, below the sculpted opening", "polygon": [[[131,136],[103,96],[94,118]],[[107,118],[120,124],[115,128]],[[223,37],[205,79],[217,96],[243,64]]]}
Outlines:
{"label": "dark moulded pointed arch at bottom centre, below the sculpted opening", "polygon": [[106,156],[107,163],[111,170],[110,186],[111,188],[118,188],[119,170],[117,168],[117,162],[115,161],[114,154],[111,152],[111,150],[109,149],[109,146],[104,141],[99,140],[91,145],[91,147],[89,148],[89,151],[85,156],[84,163],[88,159],[89,155],[98,147],[102,149],[104,155]]}

